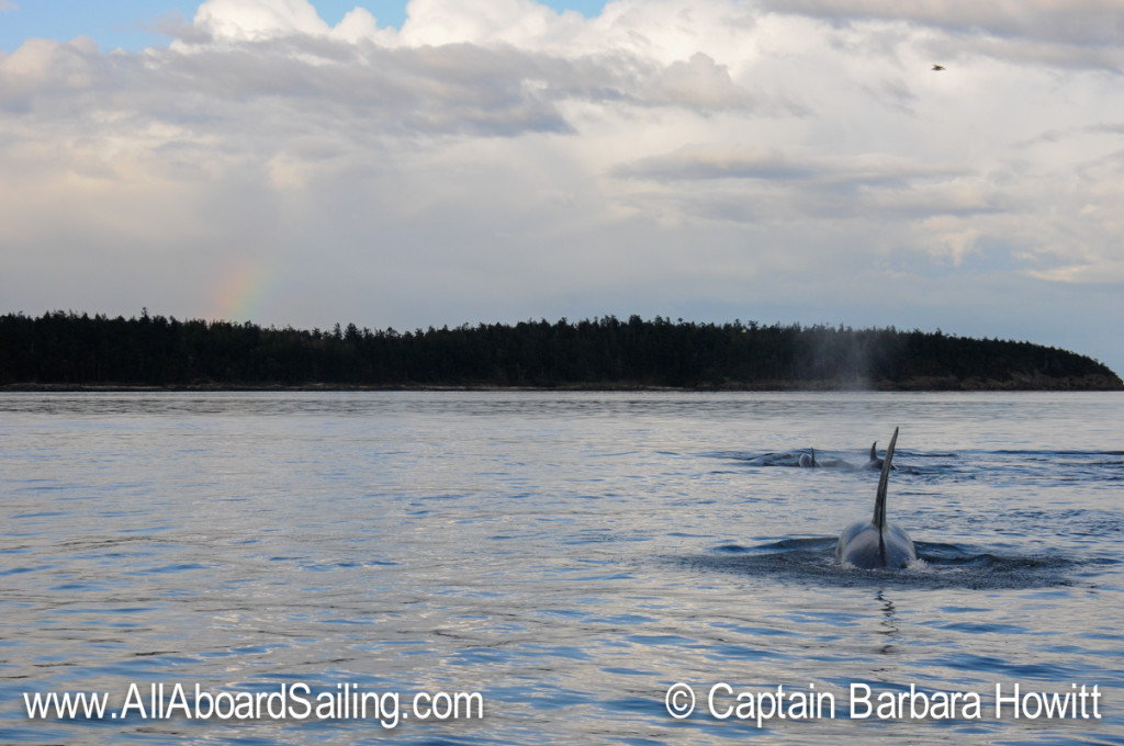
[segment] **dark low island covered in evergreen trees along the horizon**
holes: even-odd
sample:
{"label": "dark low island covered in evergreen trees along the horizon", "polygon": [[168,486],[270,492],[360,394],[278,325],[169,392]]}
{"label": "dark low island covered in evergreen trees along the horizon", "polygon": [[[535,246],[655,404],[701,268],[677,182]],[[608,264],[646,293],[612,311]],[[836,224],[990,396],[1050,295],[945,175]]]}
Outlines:
{"label": "dark low island covered in evergreen trees along the horizon", "polygon": [[0,316],[19,388],[1124,390],[1102,363],[942,331],[613,316],[399,333],[55,311]]}

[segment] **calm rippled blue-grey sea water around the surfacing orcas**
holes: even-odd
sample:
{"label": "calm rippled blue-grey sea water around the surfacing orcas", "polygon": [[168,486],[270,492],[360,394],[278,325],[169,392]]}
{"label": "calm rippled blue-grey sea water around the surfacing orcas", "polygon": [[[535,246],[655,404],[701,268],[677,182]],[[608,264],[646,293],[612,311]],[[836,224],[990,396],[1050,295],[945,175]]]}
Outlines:
{"label": "calm rippled blue-grey sea water around the surfacing orcas", "polygon": [[[841,567],[895,426],[924,564]],[[4,393],[0,742],[1122,744],[1122,497],[1112,393]]]}

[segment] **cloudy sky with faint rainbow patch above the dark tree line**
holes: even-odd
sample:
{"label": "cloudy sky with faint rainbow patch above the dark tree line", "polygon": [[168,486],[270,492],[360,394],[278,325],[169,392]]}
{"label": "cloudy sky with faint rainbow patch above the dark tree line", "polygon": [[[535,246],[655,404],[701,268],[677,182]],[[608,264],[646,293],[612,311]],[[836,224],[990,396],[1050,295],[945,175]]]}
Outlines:
{"label": "cloudy sky with faint rainbow patch above the dark tree line", "polygon": [[0,0],[0,312],[895,326],[1124,373],[1124,0]]}

